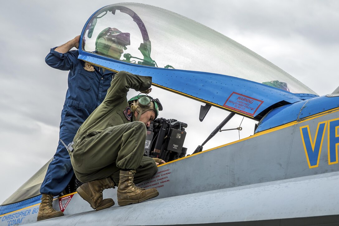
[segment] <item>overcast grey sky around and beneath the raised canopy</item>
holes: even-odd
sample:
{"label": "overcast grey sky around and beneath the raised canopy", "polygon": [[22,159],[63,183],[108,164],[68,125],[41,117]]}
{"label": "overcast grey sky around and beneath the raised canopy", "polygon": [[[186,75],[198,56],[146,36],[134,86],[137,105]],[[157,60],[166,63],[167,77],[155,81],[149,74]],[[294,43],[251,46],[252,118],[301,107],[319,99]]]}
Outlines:
{"label": "overcast grey sky around and beneath the raised canopy", "polygon": [[[68,72],[48,67],[50,48],[80,34],[89,16],[121,1],[4,1],[0,14],[0,203],[55,153]],[[319,95],[339,86],[339,1],[135,1],[186,16],[241,43],[291,74]],[[152,91],[164,108],[180,102],[188,124],[185,147],[197,145],[228,114],[212,108],[203,123],[200,103],[160,89]],[[171,111],[162,117],[171,117]],[[227,128],[238,127],[234,117]],[[240,138],[253,134],[244,119]],[[225,127],[225,128],[226,128]],[[236,131],[219,133],[204,150],[239,139]]]}

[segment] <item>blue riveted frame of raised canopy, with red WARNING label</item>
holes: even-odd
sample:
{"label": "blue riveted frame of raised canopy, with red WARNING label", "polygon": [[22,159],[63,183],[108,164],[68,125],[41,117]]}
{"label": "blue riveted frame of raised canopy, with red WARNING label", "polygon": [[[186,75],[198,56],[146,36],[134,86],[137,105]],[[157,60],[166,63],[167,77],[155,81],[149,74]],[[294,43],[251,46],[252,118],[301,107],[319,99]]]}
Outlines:
{"label": "blue riveted frame of raised canopy, with red WARNING label", "polygon": [[[186,95],[190,98],[212,103],[219,108],[256,118],[268,107],[281,101],[296,102],[303,98],[293,93],[266,86],[261,83],[227,75],[176,69],[154,68],[144,65],[120,62],[93,53],[79,50],[79,59],[101,65],[114,71],[127,71],[143,76],[152,76],[152,82],[163,89]],[[95,57],[94,57],[95,56]],[[114,62],[116,61],[116,63]],[[259,118],[260,119],[260,118]]]}

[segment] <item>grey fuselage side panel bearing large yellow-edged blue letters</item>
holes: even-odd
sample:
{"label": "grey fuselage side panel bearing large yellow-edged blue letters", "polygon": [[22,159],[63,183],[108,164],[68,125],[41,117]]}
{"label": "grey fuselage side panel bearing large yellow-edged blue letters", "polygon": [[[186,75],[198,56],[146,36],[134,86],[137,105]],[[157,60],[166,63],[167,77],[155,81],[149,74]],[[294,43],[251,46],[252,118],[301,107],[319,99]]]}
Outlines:
{"label": "grey fuselage side panel bearing large yellow-edged blue letters", "polygon": [[[318,128],[318,124],[324,121],[333,122],[332,127],[335,127],[335,122],[337,122],[336,120],[338,118],[338,111],[325,114],[314,119],[301,121],[289,127],[273,130],[264,135],[254,135],[211,151],[205,151],[185,157],[184,159],[179,159],[176,162],[160,166],[159,170],[171,169],[171,176],[172,169],[175,175],[180,174],[180,172],[185,172],[187,177],[175,179],[177,181],[175,184],[181,185],[182,191],[180,192],[186,192],[186,189],[191,192],[200,192],[222,187],[236,187],[259,182],[283,180],[295,176],[338,171],[339,164],[334,163],[335,160],[333,160],[334,164],[329,164],[328,162],[327,127],[322,128],[321,132],[323,133],[321,133],[320,128]],[[319,155],[314,154],[307,156],[305,154],[304,144],[306,144],[308,148],[307,153],[311,153],[310,147],[312,148],[312,144],[310,140],[303,140],[300,133],[300,128],[303,127],[310,128],[310,136],[312,142],[316,143],[317,148],[320,150]],[[317,129],[319,136],[316,139],[315,134],[317,133]],[[333,133],[333,130],[331,131]],[[306,135],[308,134],[305,134],[304,137],[306,137]],[[333,136],[333,134],[330,134],[330,137]],[[281,139],[281,137],[283,137],[283,139]],[[339,143],[338,140],[333,140],[334,141],[331,141],[332,143]],[[313,150],[317,151],[315,148],[313,148]],[[333,151],[331,151],[331,154],[333,155]],[[336,156],[335,153],[334,156]],[[318,158],[318,166],[310,168],[308,162],[317,162]],[[204,167],[201,168],[200,166]],[[211,172],[214,171],[217,172],[211,174]],[[218,172],[223,172],[223,174],[220,175]],[[192,186],[190,186],[190,184],[196,183],[195,180],[201,181],[201,178],[204,178],[203,183],[199,184],[198,188],[192,188]],[[168,178],[168,180],[171,180],[171,178]],[[188,185],[186,188],[187,182]],[[159,185],[155,185],[155,187],[156,186]],[[177,185],[174,185],[174,187],[167,192],[162,192],[160,197],[168,192],[170,195],[183,194],[175,193],[178,192],[176,186]]]}

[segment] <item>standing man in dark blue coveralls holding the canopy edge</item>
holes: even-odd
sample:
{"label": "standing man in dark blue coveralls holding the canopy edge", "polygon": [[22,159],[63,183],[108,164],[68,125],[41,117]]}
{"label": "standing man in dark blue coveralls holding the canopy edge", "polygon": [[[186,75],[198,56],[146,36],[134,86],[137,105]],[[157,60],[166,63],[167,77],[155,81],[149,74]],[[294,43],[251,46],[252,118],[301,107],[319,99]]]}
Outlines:
{"label": "standing man in dark blue coveralls holding the canopy edge", "polygon": [[[46,56],[46,63],[52,68],[69,71],[68,90],[61,112],[59,138],[71,143],[79,127],[86,118],[104,100],[107,89],[115,76],[112,71],[104,70],[78,59],[80,36],[65,44],[51,49]],[[120,59],[126,45],[130,44],[129,33],[122,33],[115,28],[104,29],[96,39],[96,53]],[[59,195],[71,181],[74,174],[67,149],[59,141],[57,151],[49,163],[44,181],[40,187],[41,204],[37,220],[63,216],[63,212],[53,209],[53,197]]]}

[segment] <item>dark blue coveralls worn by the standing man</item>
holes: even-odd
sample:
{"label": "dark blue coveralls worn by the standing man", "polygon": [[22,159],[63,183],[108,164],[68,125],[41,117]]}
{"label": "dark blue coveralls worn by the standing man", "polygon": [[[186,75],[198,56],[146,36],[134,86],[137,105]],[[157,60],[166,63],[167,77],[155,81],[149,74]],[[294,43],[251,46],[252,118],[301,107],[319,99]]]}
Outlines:
{"label": "dark blue coveralls worn by the standing man", "polygon": [[[56,47],[55,47],[56,48]],[[104,100],[115,73],[94,66],[94,71],[84,69],[85,62],[78,59],[79,51],[59,53],[54,49],[45,62],[52,68],[69,71],[68,90],[61,112],[59,138],[67,145],[73,141],[79,127]],[[73,168],[67,149],[59,141],[57,151],[49,163],[45,179],[40,187],[42,194],[60,194],[73,176]]]}

